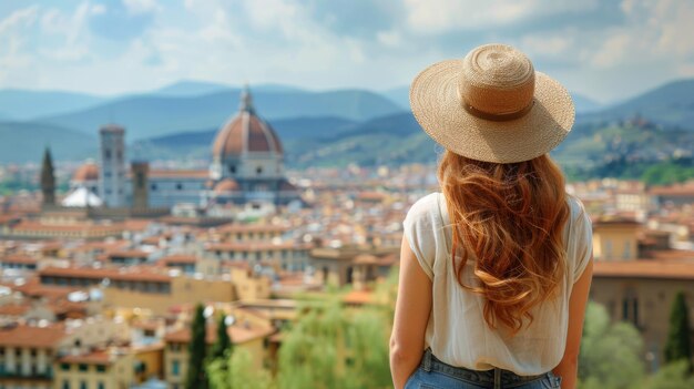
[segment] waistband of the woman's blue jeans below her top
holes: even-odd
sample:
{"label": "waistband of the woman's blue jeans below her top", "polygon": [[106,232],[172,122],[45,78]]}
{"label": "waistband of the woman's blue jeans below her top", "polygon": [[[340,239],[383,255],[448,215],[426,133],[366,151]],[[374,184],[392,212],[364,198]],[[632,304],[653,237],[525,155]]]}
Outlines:
{"label": "waistband of the woman's blue jeans below her top", "polygon": [[438,360],[428,348],[421,358],[420,367],[429,371],[439,371],[446,375],[460,378],[470,382],[480,383],[482,386],[492,385],[494,388],[517,386],[529,381],[534,381],[548,376],[548,373],[539,376],[519,376],[510,370],[493,368],[491,370],[471,370],[462,367],[455,367]]}

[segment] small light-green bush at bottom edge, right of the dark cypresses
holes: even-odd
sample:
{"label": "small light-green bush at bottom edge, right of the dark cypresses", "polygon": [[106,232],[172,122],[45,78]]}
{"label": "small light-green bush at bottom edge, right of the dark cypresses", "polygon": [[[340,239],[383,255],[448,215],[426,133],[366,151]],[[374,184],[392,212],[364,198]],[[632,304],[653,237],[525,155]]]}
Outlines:
{"label": "small light-green bush at bottom edge, right of the dark cypresses", "polygon": [[275,388],[269,371],[255,368],[249,351],[243,348],[235,350],[228,358],[213,359],[207,365],[207,377],[212,389]]}

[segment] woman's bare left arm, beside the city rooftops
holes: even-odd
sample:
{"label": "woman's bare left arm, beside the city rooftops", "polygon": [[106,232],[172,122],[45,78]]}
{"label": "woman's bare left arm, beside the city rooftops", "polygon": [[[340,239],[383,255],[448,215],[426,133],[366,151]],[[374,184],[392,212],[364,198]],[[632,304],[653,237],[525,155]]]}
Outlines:
{"label": "woman's bare left arm, beside the city rooftops", "polygon": [[421,360],[430,314],[431,280],[421,269],[407,238],[402,237],[398,299],[390,336],[390,373],[395,389],[405,387]]}

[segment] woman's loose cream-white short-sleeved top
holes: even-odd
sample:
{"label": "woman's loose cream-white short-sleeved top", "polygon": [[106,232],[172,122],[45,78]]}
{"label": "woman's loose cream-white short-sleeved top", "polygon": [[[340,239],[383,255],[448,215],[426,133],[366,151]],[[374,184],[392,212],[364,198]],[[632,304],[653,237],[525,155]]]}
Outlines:
{"label": "woman's loose cream-white short-sleeved top", "polygon": [[[571,216],[564,228],[564,245],[569,269],[557,299],[535,307],[532,324],[516,336],[503,327],[491,329],[484,321],[484,299],[456,280],[450,260],[452,229],[443,195],[432,193],[412,205],[402,224],[404,233],[432,281],[425,347],[430,347],[438,359],[473,370],[497,367],[520,376],[541,375],[559,365],[567,344],[571,289],[592,253],[590,218],[579,199],[568,198]],[[466,285],[479,285],[473,267],[468,260],[462,272]]]}

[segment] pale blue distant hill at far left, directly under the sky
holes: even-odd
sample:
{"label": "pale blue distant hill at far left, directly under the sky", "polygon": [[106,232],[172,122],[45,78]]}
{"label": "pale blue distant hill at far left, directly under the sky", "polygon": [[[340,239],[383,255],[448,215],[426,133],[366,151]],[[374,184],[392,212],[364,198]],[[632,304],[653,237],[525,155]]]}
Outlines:
{"label": "pale blue distant hill at far left, directly under the sky", "polygon": [[106,98],[85,93],[0,90],[0,108],[6,120],[24,121],[94,106]]}

